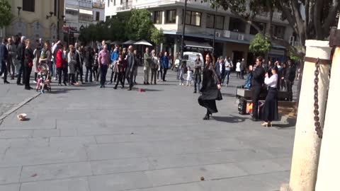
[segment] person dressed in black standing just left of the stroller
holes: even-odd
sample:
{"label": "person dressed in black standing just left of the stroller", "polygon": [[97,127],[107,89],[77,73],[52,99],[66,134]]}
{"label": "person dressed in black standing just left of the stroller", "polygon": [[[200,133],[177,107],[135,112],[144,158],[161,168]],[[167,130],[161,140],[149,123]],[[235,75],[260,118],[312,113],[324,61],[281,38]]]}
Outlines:
{"label": "person dressed in black standing just left of the stroller", "polygon": [[26,49],[25,49],[25,61],[23,62],[23,66],[24,66],[23,79],[24,79],[26,90],[33,89],[32,87],[30,87],[30,72],[32,71],[32,67],[33,67],[34,55],[33,55],[33,50],[30,46],[31,46],[30,40],[27,39]]}

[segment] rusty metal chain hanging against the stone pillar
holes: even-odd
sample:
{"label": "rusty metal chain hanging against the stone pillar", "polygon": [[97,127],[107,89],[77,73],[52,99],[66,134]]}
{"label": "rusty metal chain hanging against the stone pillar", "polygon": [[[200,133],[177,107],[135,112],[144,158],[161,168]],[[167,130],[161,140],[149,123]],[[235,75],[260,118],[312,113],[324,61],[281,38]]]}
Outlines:
{"label": "rusty metal chain hanging against the stone pillar", "polygon": [[315,126],[315,131],[317,132],[317,135],[319,136],[320,139],[322,139],[322,127],[320,124],[320,118],[319,118],[319,58],[317,58],[317,62],[315,62],[315,71],[314,71],[314,126]]}

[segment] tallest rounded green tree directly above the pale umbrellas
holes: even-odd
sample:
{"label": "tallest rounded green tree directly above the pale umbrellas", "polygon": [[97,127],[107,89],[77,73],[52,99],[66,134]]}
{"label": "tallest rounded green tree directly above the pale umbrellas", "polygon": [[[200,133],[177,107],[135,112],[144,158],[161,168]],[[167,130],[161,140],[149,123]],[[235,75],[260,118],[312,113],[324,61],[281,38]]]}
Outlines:
{"label": "tallest rounded green tree directly above the pale umbrellas", "polygon": [[151,13],[147,9],[132,9],[125,26],[125,36],[130,40],[149,40],[152,28]]}

